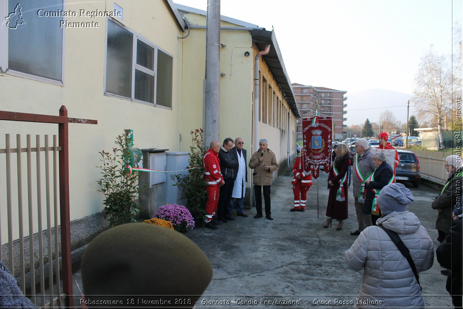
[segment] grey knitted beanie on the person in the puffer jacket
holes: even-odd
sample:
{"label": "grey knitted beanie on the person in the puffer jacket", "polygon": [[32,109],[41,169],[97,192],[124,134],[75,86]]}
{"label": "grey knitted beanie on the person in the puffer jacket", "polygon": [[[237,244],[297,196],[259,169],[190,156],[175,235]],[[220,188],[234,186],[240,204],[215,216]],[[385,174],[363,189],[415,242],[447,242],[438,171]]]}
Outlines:
{"label": "grey knitted beanie on the person in the puffer jacket", "polygon": [[378,196],[378,205],[383,215],[394,211],[406,211],[407,206],[413,203],[413,195],[401,183],[391,183],[382,188]]}

